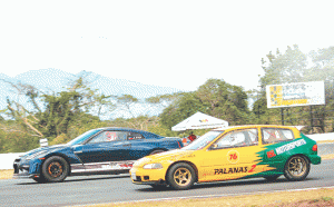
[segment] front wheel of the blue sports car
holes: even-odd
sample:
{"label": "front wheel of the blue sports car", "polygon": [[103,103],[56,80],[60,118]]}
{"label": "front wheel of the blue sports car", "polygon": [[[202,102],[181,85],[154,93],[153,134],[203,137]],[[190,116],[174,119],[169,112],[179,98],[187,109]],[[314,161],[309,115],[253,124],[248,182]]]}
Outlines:
{"label": "front wheel of the blue sports car", "polygon": [[62,157],[49,157],[42,165],[42,176],[49,183],[63,181],[68,174],[69,165]]}

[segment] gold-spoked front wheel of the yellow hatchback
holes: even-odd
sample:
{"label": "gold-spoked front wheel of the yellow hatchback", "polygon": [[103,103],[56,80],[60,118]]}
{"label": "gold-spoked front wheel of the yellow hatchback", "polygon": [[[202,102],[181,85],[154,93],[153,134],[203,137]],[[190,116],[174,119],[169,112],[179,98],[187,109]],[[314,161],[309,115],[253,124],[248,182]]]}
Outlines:
{"label": "gold-spoked front wheel of the yellow hatchback", "polygon": [[166,178],[174,189],[186,190],[193,187],[196,174],[191,166],[186,162],[179,162],[170,167]]}

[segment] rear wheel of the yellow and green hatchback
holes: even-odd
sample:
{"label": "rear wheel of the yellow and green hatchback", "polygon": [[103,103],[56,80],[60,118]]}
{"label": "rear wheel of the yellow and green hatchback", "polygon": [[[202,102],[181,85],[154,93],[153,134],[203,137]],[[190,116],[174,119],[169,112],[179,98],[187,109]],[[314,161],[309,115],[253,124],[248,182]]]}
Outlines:
{"label": "rear wheel of the yellow and green hatchback", "polygon": [[284,176],[292,181],[304,180],[310,172],[310,161],[302,155],[291,157],[284,167]]}

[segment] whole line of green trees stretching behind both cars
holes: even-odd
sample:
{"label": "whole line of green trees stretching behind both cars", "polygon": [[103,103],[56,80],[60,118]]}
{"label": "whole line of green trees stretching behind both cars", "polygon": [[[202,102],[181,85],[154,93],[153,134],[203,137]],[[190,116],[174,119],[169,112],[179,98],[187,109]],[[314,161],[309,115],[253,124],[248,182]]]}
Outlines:
{"label": "whole line of green trees stretching behind both cars", "polygon": [[[65,144],[80,134],[99,127],[128,127],[161,136],[185,136],[170,128],[197,111],[227,120],[229,125],[303,125],[305,134],[333,131],[334,47],[303,53],[297,46],[278,49],[262,59],[264,75],[259,88],[246,91],[224,79],[208,79],[197,90],[160,95],[144,100],[147,110],[161,108],[157,116],[135,116],[131,109],[140,100],[131,95],[102,95],[91,89],[85,75],[70,81],[60,92],[45,92],[31,85],[9,82],[17,99],[7,98],[0,117],[0,152],[27,151],[49,145]],[[245,79],[245,77],[240,77]],[[267,85],[307,81],[325,82],[325,105],[267,108]],[[14,97],[14,96],[13,96]],[[20,100],[29,105],[22,105]],[[252,106],[249,101],[253,102]],[[129,118],[102,119],[101,116],[124,110]],[[282,117],[285,117],[282,120]],[[206,130],[198,130],[204,134]]]}

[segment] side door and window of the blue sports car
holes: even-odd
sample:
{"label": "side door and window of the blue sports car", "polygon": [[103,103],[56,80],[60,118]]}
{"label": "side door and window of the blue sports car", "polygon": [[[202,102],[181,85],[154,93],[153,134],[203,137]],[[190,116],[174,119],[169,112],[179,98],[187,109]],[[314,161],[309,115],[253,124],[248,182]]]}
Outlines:
{"label": "side door and window of the blue sports car", "polygon": [[130,149],[126,138],[126,131],[101,131],[86,145],[76,147],[75,154],[84,164],[120,161]]}

